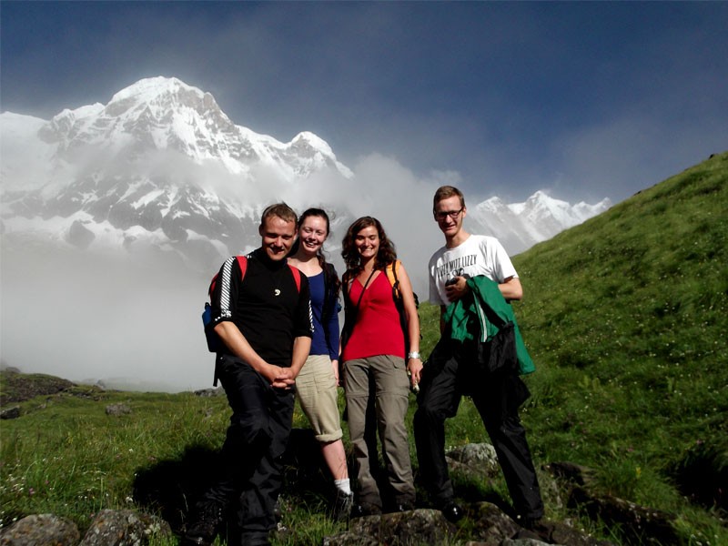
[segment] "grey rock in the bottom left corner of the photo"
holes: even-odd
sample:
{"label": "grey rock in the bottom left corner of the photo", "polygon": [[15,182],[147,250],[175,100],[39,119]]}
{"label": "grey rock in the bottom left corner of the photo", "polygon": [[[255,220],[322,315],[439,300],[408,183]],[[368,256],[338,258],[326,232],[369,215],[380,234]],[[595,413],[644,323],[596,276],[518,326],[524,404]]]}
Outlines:
{"label": "grey rock in the bottom left corner of the photo", "polygon": [[80,538],[76,523],[53,514],[27,516],[0,529],[2,546],[76,546]]}

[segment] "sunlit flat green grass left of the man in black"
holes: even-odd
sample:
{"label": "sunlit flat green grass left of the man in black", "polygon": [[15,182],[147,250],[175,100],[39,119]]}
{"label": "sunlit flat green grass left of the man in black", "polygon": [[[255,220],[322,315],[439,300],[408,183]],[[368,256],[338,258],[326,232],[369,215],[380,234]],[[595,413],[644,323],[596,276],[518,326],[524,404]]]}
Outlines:
{"label": "sunlit flat green grass left of the man in black", "polygon": [[[111,403],[124,403],[132,413],[108,416]],[[54,512],[83,528],[98,510],[133,507],[138,470],[179,456],[187,445],[218,449],[227,424],[225,399],[191,393],[62,395],[21,406],[21,419],[3,422],[4,525],[28,513]]]}

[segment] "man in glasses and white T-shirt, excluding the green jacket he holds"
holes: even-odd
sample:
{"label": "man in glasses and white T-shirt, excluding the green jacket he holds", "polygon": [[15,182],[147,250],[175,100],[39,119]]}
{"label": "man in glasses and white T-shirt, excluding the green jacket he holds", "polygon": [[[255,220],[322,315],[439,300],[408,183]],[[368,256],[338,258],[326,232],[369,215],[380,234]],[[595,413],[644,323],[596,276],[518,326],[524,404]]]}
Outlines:
{"label": "man in glasses and white T-shirt, excluding the green jacket he holds", "polygon": [[[430,302],[440,305],[440,334],[450,303],[466,297],[467,279],[479,275],[498,283],[503,297],[521,299],[523,289],[505,249],[496,238],[470,235],[462,228],[465,198],[457,187],[443,186],[432,208],[445,246],[430,258]],[[441,337],[422,370],[414,432],[420,476],[431,501],[450,521],[463,515],[455,501],[445,460],[445,419],[456,415],[460,398],[472,397],[498,454],[514,504],[516,520],[532,527],[543,516],[543,502],[518,408],[528,398],[516,370],[485,372],[477,347]]]}

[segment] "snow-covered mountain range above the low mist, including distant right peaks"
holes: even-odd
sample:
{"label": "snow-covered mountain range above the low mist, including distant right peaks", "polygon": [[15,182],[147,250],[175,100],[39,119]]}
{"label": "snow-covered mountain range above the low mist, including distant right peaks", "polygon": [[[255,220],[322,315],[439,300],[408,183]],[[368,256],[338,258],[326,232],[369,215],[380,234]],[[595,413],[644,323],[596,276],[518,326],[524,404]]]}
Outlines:
{"label": "snow-covered mountain range above the low mist, including distant right peaks", "polygon": [[[177,78],[143,79],[106,105],[51,120],[4,113],[0,129],[6,243],[32,236],[76,248],[155,248],[207,270],[257,246],[270,196],[295,205],[302,181],[327,177],[344,192],[354,178],[319,136],[282,143],[255,133]],[[542,192],[513,205],[493,197],[471,205],[467,221],[516,254],[609,205],[572,207]],[[353,219],[340,206],[333,216],[335,234]]]}

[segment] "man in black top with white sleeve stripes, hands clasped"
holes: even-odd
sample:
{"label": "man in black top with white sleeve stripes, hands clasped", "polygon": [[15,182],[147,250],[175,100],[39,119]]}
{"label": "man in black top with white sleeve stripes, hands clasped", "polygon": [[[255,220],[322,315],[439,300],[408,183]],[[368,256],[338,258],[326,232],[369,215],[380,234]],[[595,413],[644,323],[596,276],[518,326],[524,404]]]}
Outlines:
{"label": "man in black top with white sleeve stripes, hands clasped", "polygon": [[276,527],[280,456],[292,426],[295,379],[313,332],[308,279],[295,275],[286,260],[297,222],[287,205],[271,205],[258,228],[262,245],[248,256],[245,274],[233,257],[217,275],[212,323],[223,348],[216,376],[233,414],[222,476],[197,503],[184,544],[211,544],[234,501],[242,544],[268,544],[268,532]]}

